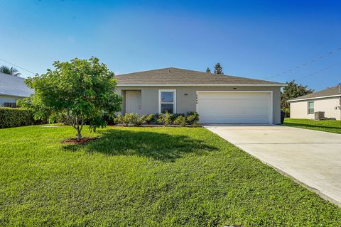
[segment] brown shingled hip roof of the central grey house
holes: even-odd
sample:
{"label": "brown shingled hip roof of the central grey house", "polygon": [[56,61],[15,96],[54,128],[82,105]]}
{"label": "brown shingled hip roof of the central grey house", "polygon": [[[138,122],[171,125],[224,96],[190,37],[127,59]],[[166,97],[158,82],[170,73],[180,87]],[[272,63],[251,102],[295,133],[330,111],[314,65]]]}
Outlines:
{"label": "brown shingled hip roof of the central grey house", "polygon": [[285,84],[261,79],[232,77],[194,70],[165,68],[116,76],[118,86],[276,86]]}

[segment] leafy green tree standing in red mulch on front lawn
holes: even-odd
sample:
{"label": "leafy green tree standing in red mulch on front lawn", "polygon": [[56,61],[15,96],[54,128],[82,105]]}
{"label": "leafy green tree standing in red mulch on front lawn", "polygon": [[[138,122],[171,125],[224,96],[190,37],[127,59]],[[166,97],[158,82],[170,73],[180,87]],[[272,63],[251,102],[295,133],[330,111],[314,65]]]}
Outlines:
{"label": "leafy green tree standing in red mulch on front lawn", "polygon": [[55,70],[26,79],[35,93],[22,101],[22,106],[33,110],[36,119],[62,117],[77,131],[89,122],[90,131],[104,127],[104,114],[114,116],[121,110],[121,96],[115,92],[116,79],[106,65],[96,57],[90,60],[73,59],[54,62]]}

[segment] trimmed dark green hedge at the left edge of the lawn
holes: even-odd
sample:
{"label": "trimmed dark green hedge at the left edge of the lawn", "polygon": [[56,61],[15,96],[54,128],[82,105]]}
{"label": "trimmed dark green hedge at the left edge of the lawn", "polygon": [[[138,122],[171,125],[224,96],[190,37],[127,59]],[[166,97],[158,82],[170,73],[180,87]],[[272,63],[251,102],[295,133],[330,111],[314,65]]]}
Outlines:
{"label": "trimmed dark green hedge at the left edge of the lawn", "polygon": [[33,123],[33,113],[28,109],[0,107],[0,128],[28,126]]}

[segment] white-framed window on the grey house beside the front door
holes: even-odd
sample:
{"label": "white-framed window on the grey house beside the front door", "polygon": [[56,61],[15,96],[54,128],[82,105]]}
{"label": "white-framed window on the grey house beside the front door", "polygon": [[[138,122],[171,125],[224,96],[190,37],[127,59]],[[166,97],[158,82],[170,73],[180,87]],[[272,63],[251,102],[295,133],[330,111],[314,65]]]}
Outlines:
{"label": "white-framed window on the grey house beside the front door", "polygon": [[158,112],[176,113],[176,90],[158,90]]}

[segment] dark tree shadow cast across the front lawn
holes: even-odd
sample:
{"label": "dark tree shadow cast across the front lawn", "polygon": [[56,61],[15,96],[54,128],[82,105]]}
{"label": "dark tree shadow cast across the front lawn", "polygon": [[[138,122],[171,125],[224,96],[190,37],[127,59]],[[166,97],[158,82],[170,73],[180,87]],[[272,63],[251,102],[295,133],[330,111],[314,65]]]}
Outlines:
{"label": "dark tree shadow cast across the front lawn", "polygon": [[65,150],[84,149],[89,153],[107,155],[137,155],[152,157],[156,160],[174,161],[186,153],[205,155],[218,150],[187,135],[169,135],[148,131],[107,130],[100,132],[97,140],[85,145],[65,145]]}

